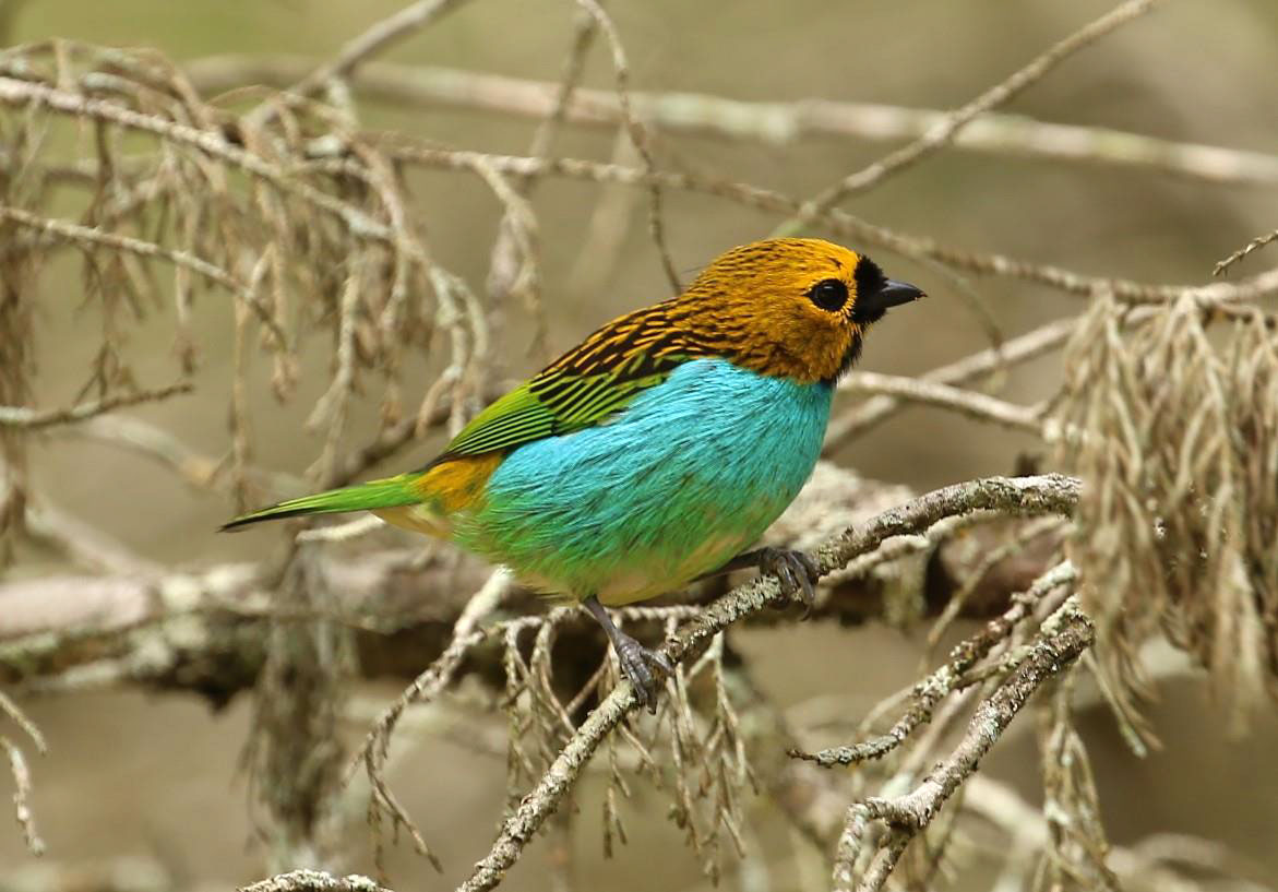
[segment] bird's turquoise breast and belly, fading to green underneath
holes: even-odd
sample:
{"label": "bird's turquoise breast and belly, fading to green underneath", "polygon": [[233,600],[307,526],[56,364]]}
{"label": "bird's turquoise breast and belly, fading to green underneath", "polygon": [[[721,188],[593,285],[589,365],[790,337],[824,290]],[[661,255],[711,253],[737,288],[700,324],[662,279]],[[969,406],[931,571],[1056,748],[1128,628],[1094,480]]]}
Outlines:
{"label": "bird's turquoise breast and belly, fading to green underneath", "polygon": [[624,604],[679,589],[799,495],[831,396],[722,359],[684,363],[608,423],[511,452],[454,538],[551,593]]}

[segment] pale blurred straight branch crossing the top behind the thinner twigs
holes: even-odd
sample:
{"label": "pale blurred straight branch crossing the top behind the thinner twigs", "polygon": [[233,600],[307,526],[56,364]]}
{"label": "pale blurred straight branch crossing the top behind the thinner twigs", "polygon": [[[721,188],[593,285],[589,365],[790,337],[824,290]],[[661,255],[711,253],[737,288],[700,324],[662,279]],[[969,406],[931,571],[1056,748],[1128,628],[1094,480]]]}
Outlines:
{"label": "pale blurred straight branch crossing the top behind the thinner twigs", "polygon": [[[313,69],[312,60],[288,55],[227,54],[185,63],[190,82],[204,95],[245,84],[285,88]],[[539,119],[553,114],[560,91],[560,84],[547,81],[385,61],[363,63],[349,77],[353,88],[372,101]],[[709,135],[771,146],[790,146],[812,138],[918,139],[952,114],[822,98],[757,102],[704,93],[640,91],[633,91],[630,97],[635,115],[663,134]],[[624,123],[615,92],[587,87],[573,92],[564,120],[598,128],[616,128]],[[953,134],[948,144],[967,152],[1148,170],[1208,183],[1278,184],[1278,157],[1264,152],[1054,124],[1024,115],[985,112]]]}

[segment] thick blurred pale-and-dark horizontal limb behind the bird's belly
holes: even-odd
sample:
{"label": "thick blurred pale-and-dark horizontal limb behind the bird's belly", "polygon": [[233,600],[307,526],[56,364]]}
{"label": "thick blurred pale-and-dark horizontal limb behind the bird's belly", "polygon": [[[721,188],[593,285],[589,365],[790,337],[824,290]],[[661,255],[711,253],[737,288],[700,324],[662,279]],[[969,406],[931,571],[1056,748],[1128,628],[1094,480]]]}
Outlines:
{"label": "thick blurred pale-and-dark horizontal limb behind the bird's belly", "polygon": [[[910,496],[902,487],[865,481],[822,463],[812,486],[778,520],[768,541],[809,547],[849,523],[861,523],[884,506]],[[321,528],[325,529],[325,528]],[[980,537],[980,529],[970,535]],[[929,612],[939,612],[967,581],[966,546],[941,541],[927,561],[934,579]],[[0,584],[0,684],[37,690],[82,690],[141,685],[189,691],[221,704],[254,684],[265,659],[263,626],[272,621],[330,619],[354,631],[360,671],[367,676],[414,677],[442,652],[491,570],[461,553],[414,565],[412,551],[369,551],[357,560],[316,556],[317,573],[335,601],[325,610],[295,610],[276,602],[272,564],[226,564],[197,573],[114,557],[95,560],[95,575],[54,575]],[[102,569],[107,573],[102,573]],[[111,570],[111,567],[115,567]],[[1007,561],[990,573],[966,615],[988,617],[1007,597],[1045,567]],[[874,574],[822,588],[814,620],[859,624],[893,608],[883,580]],[[515,589],[506,610],[541,613],[537,596]],[[773,612],[750,617],[776,624]],[[569,634],[571,633],[571,634]],[[593,653],[599,640],[587,624],[565,633],[574,647]],[[579,662],[589,662],[587,659]],[[500,673],[500,654],[472,652],[468,671]],[[584,679],[581,680],[584,682]]]}

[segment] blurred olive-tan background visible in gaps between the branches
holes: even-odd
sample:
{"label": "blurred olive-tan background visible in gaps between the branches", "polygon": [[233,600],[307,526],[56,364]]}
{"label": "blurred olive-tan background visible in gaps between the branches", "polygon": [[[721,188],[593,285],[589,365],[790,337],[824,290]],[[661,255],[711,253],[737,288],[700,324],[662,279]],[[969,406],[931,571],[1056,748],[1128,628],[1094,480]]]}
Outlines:
{"label": "blurred olive-tan background visible in gaps between the branches", "polygon": [[[170,59],[196,63],[222,54],[331,56],[349,37],[400,4],[309,0],[170,3],[41,0],[0,5],[9,43],[66,37],[130,47],[150,46]],[[608,4],[629,52],[636,91],[703,92],[758,101],[800,98],[881,102],[927,109],[965,104],[1111,4],[1034,0],[914,0],[818,3],[769,0]],[[571,3],[474,0],[386,54],[389,61],[455,66],[473,72],[555,81],[573,33]],[[1044,121],[1114,128],[1171,141],[1278,153],[1278,4],[1218,0],[1167,4],[1063,63],[1003,111]],[[607,51],[590,52],[585,86],[611,88]],[[400,130],[487,152],[527,152],[535,119],[446,107],[395,109],[360,105],[371,128]],[[0,112],[9,114],[9,112]],[[567,127],[553,155],[607,160],[611,128]],[[709,135],[657,135],[662,166],[712,171],[734,180],[810,196],[883,155],[893,143],[812,137],[787,144]],[[433,253],[482,289],[501,207],[473,176],[414,171],[417,211],[427,221]],[[590,268],[581,247],[592,210],[608,187],[547,179],[533,197],[541,222],[543,296],[550,349],[571,346],[588,330],[626,309],[666,295],[668,286],[647,234],[645,199],[630,192],[629,227],[607,268]],[[1086,166],[950,148],[889,179],[849,210],[872,222],[927,235],[966,250],[999,252],[1075,271],[1149,282],[1201,282],[1213,265],[1252,236],[1272,230],[1274,188],[1219,184],[1153,170]],[[778,219],[713,198],[670,192],[666,229],[675,266],[689,280],[723,249],[764,236]],[[817,231],[819,234],[819,230]],[[889,275],[925,288],[925,304],[895,313],[874,332],[861,368],[912,374],[988,345],[983,326],[938,272],[875,252]],[[1261,254],[1235,275],[1272,263]],[[1081,311],[1080,299],[1007,279],[971,282],[1006,336]],[[82,308],[74,265],[41,280],[35,405],[73,401],[96,348],[96,309]],[[207,452],[227,447],[227,385],[231,317],[203,299],[196,308],[202,368],[194,396],[133,411]],[[129,335],[142,369],[171,369],[167,309]],[[528,355],[532,334],[512,319],[504,334],[505,373],[523,377],[539,364]],[[0,349],[4,349],[0,345]],[[330,345],[317,337],[303,353],[299,394],[275,403],[267,363],[254,369],[250,395],[256,461],[302,474],[321,442],[302,432],[309,408],[327,383]],[[437,371],[422,364],[420,388]],[[156,380],[161,380],[157,374]],[[1059,382],[1059,357],[1017,367],[1002,395],[1019,403],[1043,399]],[[419,392],[412,399],[419,399]],[[358,441],[373,429],[377,400],[353,406]],[[362,428],[363,426],[363,428]],[[386,470],[415,466],[436,442],[426,442]],[[929,489],[973,477],[1011,473],[1029,438],[939,410],[915,408],[836,456],[866,477]],[[229,558],[258,558],[277,541],[267,534],[219,537],[231,506],[184,487],[151,463],[101,445],[49,437],[32,451],[33,484],[60,509],[110,530],[155,561],[199,567]],[[390,535],[390,534],[387,534]],[[14,576],[58,567],[55,557],[23,550]],[[918,635],[884,629],[804,627],[749,633],[739,644],[757,676],[783,704],[828,694],[864,711],[916,676]],[[389,700],[397,684],[369,691]],[[226,888],[262,875],[252,842],[248,791],[238,769],[250,722],[244,698],[212,712],[180,696],[110,693],[28,700],[51,751],[35,760],[33,806],[50,846],[47,860],[83,863],[138,856],[164,865],[188,888]],[[1192,833],[1227,843],[1242,873],[1278,877],[1278,722],[1260,716],[1250,732],[1231,739],[1205,690],[1177,681],[1150,709],[1163,748],[1136,758],[1104,709],[1084,712],[1086,742],[1098,772],[1104,820],[1116,843],[1149,834]],[[359,728],[353,728],[359,734]],[[835,741],[832,741],[835,742]],[[1013,736],[987,763],[1036,801],[1033,740]],[[400,764],[396,792],[438,851],[438,878],[406,847],[391,860],[396,888],[446,888],[491,842],[502,813],[505,767],[437,742]],[[0,780],[0,791],[8,778]],[[654,813],[665,800],[635,791],[625,814],[630,843],[611,863],[592,831],[598,801],[587,787],[580,832],[573,838],[584,888],[699,888],[697,860],[681,849],[680,832]],[[785,845],[785,831],[757,815],[767,850]],[[541,843],[544,846],[544,843]],[[544,855],[534,851],[504,888],[543,889]],[[751,879],[728,860],[728,888]],[[17,828],[0,832],[0,889],[35,888],[35,860]],[[965,870],[975,879],[983,861]],[[367,869],[363,861],[353,868]],[[795,887],[800,884],[795,879]],[[960,878],[957,888],[964,887]]]}

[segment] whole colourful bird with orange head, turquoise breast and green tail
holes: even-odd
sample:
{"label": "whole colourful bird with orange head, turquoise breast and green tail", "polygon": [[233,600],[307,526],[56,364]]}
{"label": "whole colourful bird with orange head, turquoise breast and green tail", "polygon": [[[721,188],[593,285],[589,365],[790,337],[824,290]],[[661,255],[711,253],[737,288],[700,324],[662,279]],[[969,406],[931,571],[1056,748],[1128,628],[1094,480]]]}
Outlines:
{"label": "whole colourful bird with orange head, turquoise breast and green tail", "polygon": [[677,296],[608,322],[489,404],[427,465],[222,529],[372,511],[449,539],[580,602],[653,711],[670,661],[604,608],[746,567],[810,606],[810,557],[750,547],[812,474],[835,385],[866,330],[921,296],[822,239],[740,245]]}

